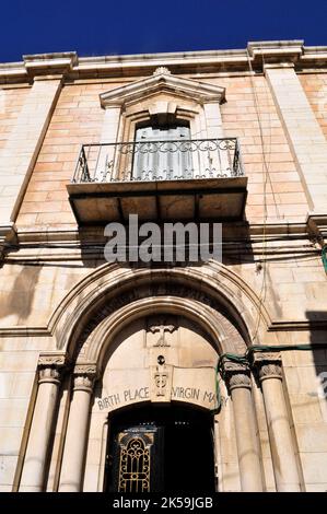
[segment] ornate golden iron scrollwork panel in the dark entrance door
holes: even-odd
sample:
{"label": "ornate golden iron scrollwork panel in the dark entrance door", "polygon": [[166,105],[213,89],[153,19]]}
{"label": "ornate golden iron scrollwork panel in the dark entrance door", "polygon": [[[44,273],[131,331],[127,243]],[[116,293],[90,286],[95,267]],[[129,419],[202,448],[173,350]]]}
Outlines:
{"label": "ornate golden iron scrollwork panel in the dark entrance door", "polygon": [[150,492],[153,434],[119,434],[119,492]]}

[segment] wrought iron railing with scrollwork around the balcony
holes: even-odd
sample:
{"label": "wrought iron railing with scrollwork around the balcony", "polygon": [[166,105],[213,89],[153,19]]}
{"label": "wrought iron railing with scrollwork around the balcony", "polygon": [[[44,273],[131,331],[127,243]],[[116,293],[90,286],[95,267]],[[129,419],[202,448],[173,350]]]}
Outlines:
{"label": "wrought iron railing with scrollwork around the balcony", "polygon": [[236,138],[83,144],[72,182],[120,183],[244,175]]}

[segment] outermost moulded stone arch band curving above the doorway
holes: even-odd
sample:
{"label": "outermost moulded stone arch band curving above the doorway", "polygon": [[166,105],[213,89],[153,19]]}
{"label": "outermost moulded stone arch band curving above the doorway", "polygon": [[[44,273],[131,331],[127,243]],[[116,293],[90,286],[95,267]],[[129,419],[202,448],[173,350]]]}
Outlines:
{"label": "outermost moulded stone arch band curving above the doorway", "polygon": [[[105,264],[63,299],[51,316],[49,328],[57,349],[72,357],[80,352],[103,319],[124,306],[147,297],[153,301],[156,296],[180,299],[187,295],[199,302],[203,309],[220,312],[231,326],[236,327],[245,344],[250,344],[256,334],[256,343],[267,341],[268,335],[269,341],[273,340],[273,334],[268,334],[271,320],[265,305],[258,314],[260,302],[256,293],[236,273],[217,262],[200,268],[151,270]],[[208,331],[212,334],[211,328]],[[221,336],[220,351],[232,351],[223,340]]]}

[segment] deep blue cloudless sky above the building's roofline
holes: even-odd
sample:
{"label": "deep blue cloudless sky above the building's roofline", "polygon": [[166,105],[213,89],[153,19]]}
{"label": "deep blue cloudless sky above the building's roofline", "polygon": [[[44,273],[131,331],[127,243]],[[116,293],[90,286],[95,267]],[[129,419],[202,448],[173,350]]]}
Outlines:
{"label": "deep blue cloudless sky above the building's roofline", "polygon": [[262,39],[327,45],[327,0],[4,0],[0,12],[0,62],[66,50],[244,48]]}

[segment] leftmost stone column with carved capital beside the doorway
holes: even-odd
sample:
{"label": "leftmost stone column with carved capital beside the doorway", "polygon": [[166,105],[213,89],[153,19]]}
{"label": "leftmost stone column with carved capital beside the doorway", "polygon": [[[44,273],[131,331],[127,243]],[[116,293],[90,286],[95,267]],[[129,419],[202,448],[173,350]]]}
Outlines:
{"label": "leftmost stone column with carved capital beside the doorway", "polygon": [[42,355],[38,361],[38,389],[22,470],[20,491],[45,488],[45,469],[57,412],[65,355]]}

